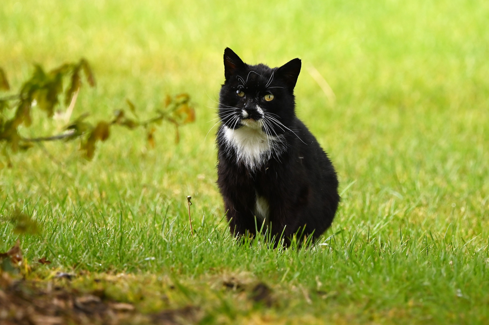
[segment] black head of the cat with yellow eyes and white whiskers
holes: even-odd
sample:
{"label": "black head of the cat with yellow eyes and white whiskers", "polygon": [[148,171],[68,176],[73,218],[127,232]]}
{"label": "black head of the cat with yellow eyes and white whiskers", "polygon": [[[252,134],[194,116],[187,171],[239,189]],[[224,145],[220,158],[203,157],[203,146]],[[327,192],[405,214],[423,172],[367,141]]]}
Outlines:
{"label": "black head of the cat with yellow eyes and white whiskers", "polygon": [[227,47],[219,103],[222,126],[260,129],[272,136],[288,133],[295,117],[293,90],[300,70],[300,59],[275,68],[247,65]]}

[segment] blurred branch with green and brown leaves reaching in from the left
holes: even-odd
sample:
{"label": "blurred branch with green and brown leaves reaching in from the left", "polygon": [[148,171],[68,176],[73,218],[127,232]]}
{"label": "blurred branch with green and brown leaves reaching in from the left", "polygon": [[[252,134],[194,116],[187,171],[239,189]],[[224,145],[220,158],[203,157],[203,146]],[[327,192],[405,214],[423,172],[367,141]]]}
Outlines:
{"label": "blurred branch with green and brown leaves reaching in from the left", "polygon": [[[176,96],[167,96],[163,109],[156,109],[154,117],[148,120],[140,120],[133,102],[126,100],[133,118],[128,117],[126,111],[118,109],[114,117],[109,121],[99,121],[93,126],[86,121],[88,113],[81,114],[64,128],[61,134],[26,138],[20,135],[19,127],[30,127],[32,124],[32,108],[38,107],[48,118],[54,115],[54,109],[63,105],[60,98],[64,96],[64,105],[68,106],[68,118],[74,107],[80,88],[82,87],[82,73],[90,87],[95,87],[95,78],[87,60],[81,59],[77,63],[61,65],[49,72],[45,72],[42,66],[35,65],[32,76],[23,83],[18,94],[0,97],[0,146],[2,153],[7,158],[11,167],[7,149],[12,152],[27,150],[32,143],[64,140],[70,141],[81,138],[80,149],[85,152],[87,159],[91,159],[95,152],[97,141],[106,141],[111,134],[113,125],[124,126],[130,130],[138,127],[146,129],[147,140],[151,147],[155,146],[155,125],[160,125],[163,120],[175,126],[176,142],[179,142],[178,127],[195,121],[195,110],[190,105],[190,96],[186,93]],[[68,80],[65,87],[65,81]],[[0,90],[9,90],[10,85],[5,71],[0,67]],[[15,107],[13,116],[8,117],[8,109]]]}

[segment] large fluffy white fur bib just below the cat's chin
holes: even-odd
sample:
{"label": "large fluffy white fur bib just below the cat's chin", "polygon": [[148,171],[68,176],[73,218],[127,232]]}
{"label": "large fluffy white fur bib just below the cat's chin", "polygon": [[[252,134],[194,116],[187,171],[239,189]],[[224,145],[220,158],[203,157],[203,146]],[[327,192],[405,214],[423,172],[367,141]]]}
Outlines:
{"label": "large fluffy white fur bib just below the cat's chin", "polygon": [[239,129],[223,127],[226,144],[235,149],[238,162],[243,162],[249,169],[261,167],[273,152],[283,149],[281,139],[268,135],[260,122],[243,121]]}

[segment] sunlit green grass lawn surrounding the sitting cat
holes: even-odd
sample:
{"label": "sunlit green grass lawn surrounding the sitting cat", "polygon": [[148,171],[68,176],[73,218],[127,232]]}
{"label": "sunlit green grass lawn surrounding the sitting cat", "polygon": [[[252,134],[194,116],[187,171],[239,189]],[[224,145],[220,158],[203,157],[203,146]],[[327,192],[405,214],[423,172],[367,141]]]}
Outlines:
{"label": "sunlit green grass lawn surrounding the sitting cat", "polygon": [[[32,63],[86,57],[98,85],[82,89],[75,116],[107,118],[126,98],[147,116],[167,93],[185,91],[197,122],[179,144],[163,124],[155,149],[143,132],[114,130],[91,162],[77,143],[45,144],[61,164],[40,147],[15,154],[0,170],[1,214],[23,209],[42,223],[42,236],[21,237],[28,260],[179,279],[204,288],[181,303],[208,305],[211,323],[487,324],[488,20],[489,3],[468,0],[4,0],[0,66],[14,89]],[[215,129],[206,137],[226,46],[248,63],[300,57],[336,94],[332,105],[302,70],[298,115],[345,189],[321,245],[239,245],[226,229]],[[42,118],[22,132],[61,127]],[[0,223],[0,252],[17,238]],[[232,275],[267,283],[276,304],[241,305],[211,285]]]}

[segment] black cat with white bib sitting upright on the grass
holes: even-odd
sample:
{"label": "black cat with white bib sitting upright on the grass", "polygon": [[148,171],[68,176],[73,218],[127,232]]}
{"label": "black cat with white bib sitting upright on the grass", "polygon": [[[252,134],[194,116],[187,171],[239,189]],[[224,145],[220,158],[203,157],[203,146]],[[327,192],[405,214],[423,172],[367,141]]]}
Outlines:
{"label": "black cat with white bib sitting upright on the grass", "polygon": [[[217,132],[218,186],[235,236],[320,236],[338,207],[331,161],[295,116],[301,60],[270,68],[224,50]],[[255,223],[256,217],[256,223]]]}

